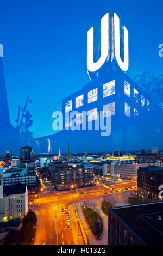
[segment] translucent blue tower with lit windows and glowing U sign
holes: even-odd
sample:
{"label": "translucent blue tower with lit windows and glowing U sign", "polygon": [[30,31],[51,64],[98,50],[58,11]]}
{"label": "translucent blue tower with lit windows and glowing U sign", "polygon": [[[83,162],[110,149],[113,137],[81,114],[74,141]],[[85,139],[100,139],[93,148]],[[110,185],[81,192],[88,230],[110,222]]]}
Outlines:
{"label": "translucent blue tower with lit windows and glowing U sign", "polygon": [[[112,16],[105,14],[101,19],[101,43],[97,51],[94,31],[92,27],[87,32],[87,74],[91,82],[62,100],[63,130],[35,139],[33,147],[36,151],[47,151],[47,139],[51,140],[53,152],[59,147],[66,152],[68,140],[75,152],[150,147],[154,117],[152,100],[126,74],[129,66],[128,30],[120,27],[116,13]],[[80,127],[75,130],[71,116],[74,111],[78,111],[74,117]],[[110,129],[107,136],[102,136],[100,125],[99,129],[95,128],[100,122],[100,112],[105,126]],[[107,117],[110,117],[109,124]],[[92,130],[82,130],[85,120],[87,126],[92,122]]]}

